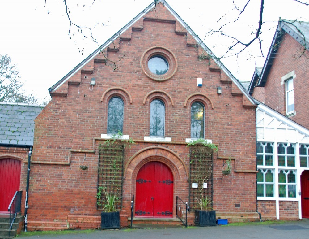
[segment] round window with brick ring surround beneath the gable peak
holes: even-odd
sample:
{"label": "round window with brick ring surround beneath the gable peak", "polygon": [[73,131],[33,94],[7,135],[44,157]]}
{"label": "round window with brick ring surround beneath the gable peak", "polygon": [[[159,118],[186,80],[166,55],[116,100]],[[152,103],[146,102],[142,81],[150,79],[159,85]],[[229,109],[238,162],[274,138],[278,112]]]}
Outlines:
{"label": "round window with brick ring surround beneath the gable peak", "polygon": [[168,80],[176,73],[177,60],[167,48],[154,46],[142,55],[141,68],[153,80]]}

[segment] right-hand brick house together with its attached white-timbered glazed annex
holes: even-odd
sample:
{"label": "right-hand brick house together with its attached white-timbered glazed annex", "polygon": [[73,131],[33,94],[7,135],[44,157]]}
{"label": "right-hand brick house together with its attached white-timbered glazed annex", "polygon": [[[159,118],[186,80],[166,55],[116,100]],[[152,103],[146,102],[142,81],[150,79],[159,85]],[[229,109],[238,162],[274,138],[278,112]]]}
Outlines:
{"label": "right-hand brick house together with its attached white-timbered glazed annex", "polygon": [[309,218],[309,23],[279,20],[248,91],[257,107],[257,200],[264,219]]}

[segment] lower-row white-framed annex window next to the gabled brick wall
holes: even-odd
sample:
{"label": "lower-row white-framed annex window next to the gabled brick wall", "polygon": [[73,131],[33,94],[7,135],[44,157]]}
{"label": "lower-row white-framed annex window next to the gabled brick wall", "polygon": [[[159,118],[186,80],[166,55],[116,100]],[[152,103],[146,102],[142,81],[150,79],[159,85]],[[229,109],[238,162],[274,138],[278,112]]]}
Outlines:
{"label": "lower-row white-framed annex window next to the gabled brick wall", "polygon": [[256,175],[257,197],[274,197],[274,170],[258,169]]}

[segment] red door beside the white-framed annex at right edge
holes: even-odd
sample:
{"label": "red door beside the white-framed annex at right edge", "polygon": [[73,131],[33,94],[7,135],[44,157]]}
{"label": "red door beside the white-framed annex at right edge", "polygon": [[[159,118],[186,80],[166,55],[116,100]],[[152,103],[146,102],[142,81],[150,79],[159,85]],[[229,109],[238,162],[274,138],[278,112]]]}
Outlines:
{"label": "red door beside the white-framed annex at right edge", "polygon": [[300,190],[302,202],[302,218],[309,218],[309,171],[300,176]]}

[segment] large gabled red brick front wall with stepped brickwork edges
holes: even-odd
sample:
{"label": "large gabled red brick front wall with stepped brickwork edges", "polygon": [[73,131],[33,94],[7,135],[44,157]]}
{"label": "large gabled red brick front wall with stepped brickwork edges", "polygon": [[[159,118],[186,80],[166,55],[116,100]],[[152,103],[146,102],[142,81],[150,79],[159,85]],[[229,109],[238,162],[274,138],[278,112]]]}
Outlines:
{"label": "large gabled red brick front wall with stepped brickwork edges", "polygon": [[[175,73],[167,80],[145,74],[143,54],[158,47],[175,56]],[[166,50],[167,49],[167,50]],[[34,149],[29,194],[29,230],[98,228],[96,209],[98,147],[107,133],[108,101],[124,101],[123,134],[136,143],[125,149],[121,225],[127,226],[130,201],[138,170],[149,161],[165,163],[173,173],[176,196],[188,201],[190,109],[195,101],[205,106],[205,139],[218,145],[213,163],[213,200],[218,215],[238,215],[255,220],[256,121],[255,105],[201,46],[157,3],[130,26],[108,49],[108,59],[119,59],[117,68],[102,53],[74,72],[51,91],[52,100],[35,121]],[[85,77],[86,76],[86,77]],[[89,82],[95,77],[93,90]],[[197,78],[203,86],[197,87]],[[224,88],[223,98],[216,88]],[[149,142],[150,102],[165,104],[165,137],[171,142]],[[79,166],[86,155],[87,171]],[[232,159],[232,173],[222,175],[223,160]],[[175,217],[175,215],[173,215]],[[239,220],[232,216],[230,221]],[[191,221],[192,224],[192,221]]]}

